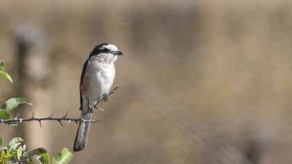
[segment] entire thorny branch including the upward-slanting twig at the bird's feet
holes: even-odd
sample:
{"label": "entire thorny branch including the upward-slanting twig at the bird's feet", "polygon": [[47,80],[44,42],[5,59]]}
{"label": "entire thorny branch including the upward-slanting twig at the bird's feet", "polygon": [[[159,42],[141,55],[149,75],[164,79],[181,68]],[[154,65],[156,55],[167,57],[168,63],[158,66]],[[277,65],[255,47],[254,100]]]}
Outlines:
{"label": "entire thorny branch including the upward-slanting twig at the bird's feet", "polygon": [[[120,84],[116,85],[115,88],[113,88],[113,90],[111,90],[111,92],[108,93],[108,96],[112,95],[115,92],[115,90],[117,90],[117,88],[120,88],[121,86],[122,85],[120,85]],[[104,97],[100,98],[99,101],[97,101],[97,103],[94,105],[95,108],[98,108],[97,105],[99,104],[100,101],[104,101]],[[98,109],[102,110],[101,108],[98,108]],[[70,122],[75,122],[77,124],[78,122],[96,123],[96,122],[100,121],[100,119],[85,120],[85,119],[82,119],[81,117],[78,117],[78,118],[67,117],[67,114],[68,114],[68,112],[66,112],[65,115],[63,115],[63,117],[52,117],[52,115],[50,115],[49,117],[34,117],[34,113],[33,113],[33,115],[29,118],[18,118],[18,116],[19,116],[19,114],[18,114],[15,118],[10,119],[10,120],[4,120],[4,119],[0,118],[0,123],[2,122],[5,124],[8,124],[10,126],[11,124],[19,124],[22,122],[36,121],[36,122],[39,122],[40,127],[42,127],[42,121],[56,121],[56,122],[59,122],[61,126],[63,126],[62,121],[67,121],[68,124]]]}

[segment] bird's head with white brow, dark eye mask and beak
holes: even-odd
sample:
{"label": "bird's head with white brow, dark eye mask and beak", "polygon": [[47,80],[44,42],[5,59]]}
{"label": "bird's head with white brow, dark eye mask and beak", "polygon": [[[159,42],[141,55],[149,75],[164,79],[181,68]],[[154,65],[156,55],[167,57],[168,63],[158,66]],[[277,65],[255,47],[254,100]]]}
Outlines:
{"label": "bird's head with white brow, dark eye mask and beak", "polygon": [[95,56],[106,63],[113,63],[117,60],[117,56],[121,56],[122,52],[113,44],[102,43],[98,44],[90,53],[90,56]]}

